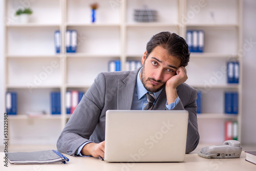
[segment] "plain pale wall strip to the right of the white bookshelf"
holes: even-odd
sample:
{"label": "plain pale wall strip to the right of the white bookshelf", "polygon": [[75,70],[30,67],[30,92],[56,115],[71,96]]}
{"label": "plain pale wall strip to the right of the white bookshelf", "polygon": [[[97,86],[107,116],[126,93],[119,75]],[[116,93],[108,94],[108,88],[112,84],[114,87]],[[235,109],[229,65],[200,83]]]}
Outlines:
{"label": "plain pale wall strip to the right of the white bookshelf", "polygon": [[[256,144],[256,1],[244,0],[243,40],[246,45],[243,58],[242,143]],[[250,47],[251,49],[249,49]]]}

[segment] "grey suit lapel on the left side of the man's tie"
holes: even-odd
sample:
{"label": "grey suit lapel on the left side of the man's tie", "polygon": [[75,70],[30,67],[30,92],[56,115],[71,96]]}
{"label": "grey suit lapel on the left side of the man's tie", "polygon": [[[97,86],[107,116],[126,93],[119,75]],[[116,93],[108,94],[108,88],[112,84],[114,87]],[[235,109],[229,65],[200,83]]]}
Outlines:
{"label": "grey suit lapel on the left side of the man's tie", "polygon": [[139,70],[132,71],[124,80],[118,80],[117,110],[131,110]]}

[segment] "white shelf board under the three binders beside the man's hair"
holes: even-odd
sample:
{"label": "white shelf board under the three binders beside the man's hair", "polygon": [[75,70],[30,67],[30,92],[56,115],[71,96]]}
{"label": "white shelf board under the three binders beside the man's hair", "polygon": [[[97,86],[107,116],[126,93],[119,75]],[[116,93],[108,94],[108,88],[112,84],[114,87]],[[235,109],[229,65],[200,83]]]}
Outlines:
{"label": "white shelf board under the three binders beside the man's hair", "polygon": [[233,58],[233,57],[239,57],[237,54],[222,54],[222,53],[196,53],[191,52],[190,57],[202,57],[202,58]]}

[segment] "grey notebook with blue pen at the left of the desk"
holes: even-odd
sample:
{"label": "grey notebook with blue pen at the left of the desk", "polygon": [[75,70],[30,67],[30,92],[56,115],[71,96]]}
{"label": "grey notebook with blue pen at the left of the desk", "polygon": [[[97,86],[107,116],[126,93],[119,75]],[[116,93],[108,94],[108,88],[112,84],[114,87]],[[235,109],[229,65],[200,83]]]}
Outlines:
{"label": "grey notebook with blue pen at the left of the desk", "polygon": [[67,161],[69,161],[66,156],[54,149],[38,152],[8,153],[8,160],[11,164],[65,164]]}

